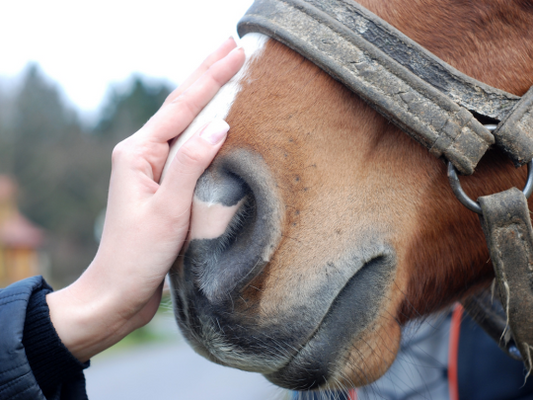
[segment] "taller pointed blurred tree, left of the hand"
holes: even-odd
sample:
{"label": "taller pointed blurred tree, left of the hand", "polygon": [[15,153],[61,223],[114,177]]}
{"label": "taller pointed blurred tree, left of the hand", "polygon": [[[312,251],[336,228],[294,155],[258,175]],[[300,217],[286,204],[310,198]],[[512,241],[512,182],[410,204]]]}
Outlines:
{"label": "taller pointed blurred tree, left of the hand", "polygon": [[92,224],[105,204],[108,173],[95,171],[99,146],[37,65],[26,68],[10,103],[0,121],[0,172],[15,177],[22,212],[46,229],[52,278],[64,285],[96,250]]}

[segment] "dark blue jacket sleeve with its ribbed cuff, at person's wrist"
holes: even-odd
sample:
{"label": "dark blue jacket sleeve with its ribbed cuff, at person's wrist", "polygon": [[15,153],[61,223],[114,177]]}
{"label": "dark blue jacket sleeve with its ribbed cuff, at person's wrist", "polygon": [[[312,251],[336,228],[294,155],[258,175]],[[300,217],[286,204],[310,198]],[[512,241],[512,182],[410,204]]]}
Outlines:
{"label": "dark blue jacket sleeve with its ribbed cuff, at person's wrist", "polygon": [[40,276],[0,289],[0,400],[87,399],[83,369],[50,321]]}

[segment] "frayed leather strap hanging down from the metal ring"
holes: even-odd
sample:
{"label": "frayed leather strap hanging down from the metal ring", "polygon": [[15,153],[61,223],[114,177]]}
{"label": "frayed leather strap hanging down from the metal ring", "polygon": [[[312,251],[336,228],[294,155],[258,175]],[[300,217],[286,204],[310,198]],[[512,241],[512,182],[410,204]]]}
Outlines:
{"label": "frayed leather strap hanging down from the metal ring", "polygon": [[[533,229],[524,194],[512,188],[478,198],[481,226],[494,266],[506,329],[528,371],[533,367]],[[505,330],[504,335],[505,336]]]}

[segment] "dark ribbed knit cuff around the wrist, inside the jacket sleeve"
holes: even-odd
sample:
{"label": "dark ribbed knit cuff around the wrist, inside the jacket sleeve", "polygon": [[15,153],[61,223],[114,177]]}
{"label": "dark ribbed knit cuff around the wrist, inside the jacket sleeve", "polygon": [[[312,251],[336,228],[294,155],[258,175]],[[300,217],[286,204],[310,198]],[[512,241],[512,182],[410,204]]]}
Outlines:
{"label": "dark ribbed knit cuff around the wrist, inside the jacket sleeve", "polygon": [[22,337],[33,375],[46,397],[89,366],[89,361],[81,363],[75,358],[57,335],[46,303],[46,295],[50,292],[42,288],[32,294]]}

